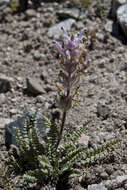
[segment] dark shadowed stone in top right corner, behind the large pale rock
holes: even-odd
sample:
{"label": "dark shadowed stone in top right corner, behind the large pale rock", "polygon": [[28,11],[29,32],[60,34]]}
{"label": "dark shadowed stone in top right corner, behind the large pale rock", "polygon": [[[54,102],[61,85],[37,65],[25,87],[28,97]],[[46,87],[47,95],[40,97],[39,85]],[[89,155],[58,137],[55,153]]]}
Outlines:
{"label": "dark shadowed stone in top right corner, behind the large pale rock", "polygon": [[118,8],[125,3],[127,3],[127,0],[112,0],[112,7],[111,7],[112,18],[116,17]]}

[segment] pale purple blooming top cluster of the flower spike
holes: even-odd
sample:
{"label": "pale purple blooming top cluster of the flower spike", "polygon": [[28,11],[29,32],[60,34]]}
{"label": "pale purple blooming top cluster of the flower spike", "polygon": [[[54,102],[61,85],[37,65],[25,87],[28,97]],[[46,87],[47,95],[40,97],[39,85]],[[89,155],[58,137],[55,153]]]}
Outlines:
{"label": "pale purple blooming top cluster of the flower spike", "polygon": [[75,71],[76,67],[79,64],[84,63],[84,58],[87,54],[87,50],[84,48],[84,44],[82,43],[82,39],[84,37],[84,33],[87,31],[86,28],[82,29],[81,32],[77,35],[69,36],[66,30],[62,27],[64,34],[64,44],[62,45],[53,41],[61,54],[61,65],[65,71],[68,73],[72,73]]}

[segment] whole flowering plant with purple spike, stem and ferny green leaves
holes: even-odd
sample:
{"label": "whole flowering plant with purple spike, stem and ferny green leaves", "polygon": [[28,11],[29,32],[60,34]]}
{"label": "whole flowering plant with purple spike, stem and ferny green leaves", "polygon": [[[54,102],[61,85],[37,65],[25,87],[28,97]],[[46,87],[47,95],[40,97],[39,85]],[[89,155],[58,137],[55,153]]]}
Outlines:
{"label": "whole flowering plant with purple spike, stem and ferny green leaves", "polygon": [[86,29],[75,36],[68,36],[65,29],[62,30],[65,38],[63,46],[54,41],[61,54],[57,85],[57,103],[63,112],[61,126],[59,128],[59,123],[56,123],[55,119],[50,121],[44,117],[49,132],[43,142],[40,142],[36,132],[35,113],[30,125],[25,122],[24,136],[18,129],[16,130],[18,151],[16,157],[9,155],[7,164],[8,170],[13,174],[19,171],[23,174],[20,180],[23,187],[50,183],[52,186],[55,185],[56,189],[66,189],[68,179],[81,175],[82,167],[92,164],[100,155],[109,152],[118,144],[118,140],[114,140],[92,150],[79,146],[77,141],[90,121],[73,134],[64,128],[67,112],[74,101],[78,102],[75,96],[78,95],[80,87],[81,72],[86,67],[87,50],[82,43]]}

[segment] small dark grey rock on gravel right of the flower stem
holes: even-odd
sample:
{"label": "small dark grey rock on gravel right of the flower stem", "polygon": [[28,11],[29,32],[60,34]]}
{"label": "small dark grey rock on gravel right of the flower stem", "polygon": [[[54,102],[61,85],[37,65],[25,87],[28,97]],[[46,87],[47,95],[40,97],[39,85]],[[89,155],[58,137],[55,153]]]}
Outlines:
{"label": "small dark grey rock on gravel right of the flower stem", "polygon": [[107,119],[109,116],[109,108],[106,105],[98,103],[97,105],[97,115]]}

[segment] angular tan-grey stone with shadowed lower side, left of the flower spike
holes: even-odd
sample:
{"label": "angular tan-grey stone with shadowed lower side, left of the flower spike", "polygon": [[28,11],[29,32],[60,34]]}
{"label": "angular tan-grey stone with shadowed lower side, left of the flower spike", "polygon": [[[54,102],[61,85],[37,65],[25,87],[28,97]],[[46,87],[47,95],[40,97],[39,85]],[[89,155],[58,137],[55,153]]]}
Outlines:
{"label": "angular tan-grey stone with shadowed lower side, left of the flower spike", "polygon": [[45,91],[41,86],[41,81],[36,78],[26,78],[27,92],[32,95],[44,94]]}

